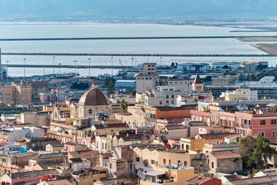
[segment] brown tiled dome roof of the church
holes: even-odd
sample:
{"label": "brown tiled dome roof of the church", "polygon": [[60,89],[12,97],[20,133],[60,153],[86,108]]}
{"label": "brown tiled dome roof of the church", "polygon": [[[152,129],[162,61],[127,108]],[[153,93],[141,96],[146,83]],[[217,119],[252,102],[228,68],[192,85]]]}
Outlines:
{"label": "brown tiled dome roof of the church", "polygon": [[111,101],[108,96],[101,91],[100,89],[90,89],[85,92],[80,100],[78,105],[109,105]]}

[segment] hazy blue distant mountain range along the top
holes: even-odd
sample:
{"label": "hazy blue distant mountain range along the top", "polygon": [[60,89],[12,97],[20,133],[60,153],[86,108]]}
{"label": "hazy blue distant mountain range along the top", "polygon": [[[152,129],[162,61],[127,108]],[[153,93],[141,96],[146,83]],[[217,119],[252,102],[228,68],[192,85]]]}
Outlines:
{"label": "hazy blue distant mountain range along the top", "polygon": [[0,0],[5,19],[275,17],[276,0]]}

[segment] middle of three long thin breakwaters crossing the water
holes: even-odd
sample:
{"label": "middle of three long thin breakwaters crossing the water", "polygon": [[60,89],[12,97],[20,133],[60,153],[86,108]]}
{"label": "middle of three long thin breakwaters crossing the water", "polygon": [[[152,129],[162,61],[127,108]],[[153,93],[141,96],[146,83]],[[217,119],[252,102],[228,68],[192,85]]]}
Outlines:
{"label": "middle of three long thin breakwaters crossing the water", "polygon": [[271,54],[147,54],[147,53],[0,53],[0,55],[111,56],[111,57],[277,57]]}

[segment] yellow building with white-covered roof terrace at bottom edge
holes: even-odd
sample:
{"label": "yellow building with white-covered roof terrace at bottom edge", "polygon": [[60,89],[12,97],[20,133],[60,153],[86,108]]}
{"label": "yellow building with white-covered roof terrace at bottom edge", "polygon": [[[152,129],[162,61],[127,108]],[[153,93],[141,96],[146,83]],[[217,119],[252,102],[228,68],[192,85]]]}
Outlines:
{"label": "yellow building with white-covered roof terrace at bottom edge", "polygon": [[194,168],[188,166],[156,166],[154,171],[145,173],[141,185],[183,185],[195,177]]}

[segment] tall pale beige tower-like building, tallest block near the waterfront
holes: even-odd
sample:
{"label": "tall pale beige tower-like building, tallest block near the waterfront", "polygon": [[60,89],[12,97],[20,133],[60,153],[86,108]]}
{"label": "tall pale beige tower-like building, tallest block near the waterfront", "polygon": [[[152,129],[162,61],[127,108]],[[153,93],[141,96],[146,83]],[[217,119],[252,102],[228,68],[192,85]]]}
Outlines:
{"label": "tall pale beige tower-like building, tallest block near the waterfront", "polygon": [[159,82],[159,74],[157,73],[156,63],[144,63],[143,69],[136,76],[136,93],[155,89]]}

